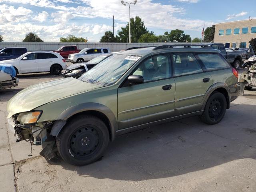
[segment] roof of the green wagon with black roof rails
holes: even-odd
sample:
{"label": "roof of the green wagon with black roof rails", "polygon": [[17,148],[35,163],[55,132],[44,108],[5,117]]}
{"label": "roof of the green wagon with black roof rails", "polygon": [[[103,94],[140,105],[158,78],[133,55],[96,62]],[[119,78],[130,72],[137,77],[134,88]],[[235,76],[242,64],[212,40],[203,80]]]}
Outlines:
{"label": "roof of the green wagon with black roof rails", "polygon": [[[179,46],[179,45],[173,45]],[[191,45],[193,46],[193,45]],[[212,53],[220,53],[219,50],[212,48],[188,48],[188,47],[174,47],[174,48],[163,48],[163,49],[154,49],[155,47],[147,47],[140,49],[132,49],[127,51],[122,51],[116,53],[115,55],[139,55],[146,56],[150,54],[158,54],[158,53],[172,53],[172,52],[212,52]]]}

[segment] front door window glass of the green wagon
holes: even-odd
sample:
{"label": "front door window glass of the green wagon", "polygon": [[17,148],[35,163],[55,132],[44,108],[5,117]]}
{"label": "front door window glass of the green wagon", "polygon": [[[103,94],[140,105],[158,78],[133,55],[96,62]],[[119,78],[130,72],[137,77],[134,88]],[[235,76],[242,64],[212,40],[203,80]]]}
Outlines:
{"label": "front door window glass of the green wagon", "polygon": [[172,76],[170,60],[166,55],[158,55],[141,62],[133,75],[141,75],[144,82],[161,80]]}

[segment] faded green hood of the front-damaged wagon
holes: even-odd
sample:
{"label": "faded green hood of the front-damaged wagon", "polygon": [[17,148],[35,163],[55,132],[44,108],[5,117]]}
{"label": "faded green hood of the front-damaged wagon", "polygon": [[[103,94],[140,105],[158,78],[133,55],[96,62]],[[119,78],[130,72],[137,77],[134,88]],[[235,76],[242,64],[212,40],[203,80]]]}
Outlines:
{"label": "faded green hood of the front-damaged wagon", "polygon": [[102,85],[86,83],[72,77],[36,84],[20,91],[9,100],[7,118],[20,112],[30,111],[54,100],[100,87]]}

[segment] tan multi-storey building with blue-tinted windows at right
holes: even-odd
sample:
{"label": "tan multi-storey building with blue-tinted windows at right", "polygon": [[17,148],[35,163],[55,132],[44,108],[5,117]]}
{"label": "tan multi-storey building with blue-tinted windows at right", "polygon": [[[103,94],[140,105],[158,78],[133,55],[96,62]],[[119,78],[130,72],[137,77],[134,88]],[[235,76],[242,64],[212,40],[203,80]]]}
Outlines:
{"label": "tan multi-storey building with blue-tinted windows at right", "polygon": [[214,42],[226,48],[249,48],[249,41],[256,38],[256,19],[216,23]]}

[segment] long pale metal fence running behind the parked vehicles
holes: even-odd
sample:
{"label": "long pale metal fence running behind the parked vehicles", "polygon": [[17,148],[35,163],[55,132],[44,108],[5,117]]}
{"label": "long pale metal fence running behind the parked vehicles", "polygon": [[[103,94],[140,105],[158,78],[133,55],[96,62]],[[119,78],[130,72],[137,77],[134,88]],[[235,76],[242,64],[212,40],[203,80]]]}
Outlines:
{"label": "long pale metal fence running behind the parked vehicles", "polygon": [[[0,42],[0,48],[5,47],[26,47],[28,51],[53,51],[57,50],[62,46],[76,45],[78,49],[92,48],[92,47],[104,47],[110,48],[111,52],[117,52],[120,50],[126,50],[130,47],[140,47],[140,46],[159,46],[164,44],[173,43],[52,43],[52,42]],[[184,43],[175,43],[184,44]],[[191,43],[189,43],[191,44]]]}

